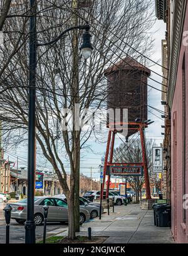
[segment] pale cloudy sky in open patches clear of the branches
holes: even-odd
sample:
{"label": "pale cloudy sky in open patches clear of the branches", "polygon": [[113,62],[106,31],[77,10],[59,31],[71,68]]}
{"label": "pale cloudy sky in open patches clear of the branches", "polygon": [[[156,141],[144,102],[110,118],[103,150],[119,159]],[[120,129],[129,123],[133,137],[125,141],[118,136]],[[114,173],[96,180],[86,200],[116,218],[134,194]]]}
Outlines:
{"label": "pale cloudy sky in open patches clear of the branches", "polygon": [[[154,61],[159,61],[159,64],[161,64],[161,40],[165,39],[165,23],[164,21],[156,21],[154,27],[152,28],[152,31],[156,31],[153,35],[155,42],[154,42],[154,54],[150,56],[150,58]],[[154,65],[152,67],[152,70],[162,75],[161,67],[158,65]],[[151,76],[155,80],[162,82],[162,78],[158,75]],[[161,89],[161,85],[158,83],[155,83],[152,80],[148,80],[149,84]],[[163,106],[161,105],[161,93],[157,90],[151,89],[148,87],[148,105],[151,105],[152,107],[155,107],[160,110],[164,110]],[[153,114],[151,113],[153,112]],[[157,116],[156,116],[157,115]],[[155,139],[155,142],[157,146],[160,146],[160,143],[162,143],[163,136],[161,135],[161,132],[164,132],[164,129],[161,128],[161,125],[164,125],[164,120],[161,119],[161,114],[159,112],[156,112],[155,110],[152,110],[148,108],[148,119],[151,119],[154,121],[153,124],[149,125],[149,128],[146,129],[146,138],[147,139]],[[120,144],[120,140],[115,141],[115,147],[117,147]],[[106,142],[104,143],[98,143],[95,140],[90,140],[88,142],[90,144],[91,150],[87,151],[81,151],[81,168],[80,172],[85,174],[86,176],[92,178],[99,178],[100,177],[100,169],[99,166],[102,164],[102,157],[105,154],[106,149]],[[4,153],[4,158],[7,159],[9,156],[9,161],[16,162],[16,157],[19,156],[19,167],[27,167],[27,153],[28,149],[27,147],[21,146],[16,151],[8,151]],[[63,159],[65,157],[61,156]],[[45,169],[45,170],[51,170],[52,167],[50,164],[47,163],[46,160],[41,159],[41,153],[37,151],[37,169]],[[45,168],[46,167],[46,168]],[[68,168],[68,161],[65,161],[65,168],[66,170],[70,170]]]}

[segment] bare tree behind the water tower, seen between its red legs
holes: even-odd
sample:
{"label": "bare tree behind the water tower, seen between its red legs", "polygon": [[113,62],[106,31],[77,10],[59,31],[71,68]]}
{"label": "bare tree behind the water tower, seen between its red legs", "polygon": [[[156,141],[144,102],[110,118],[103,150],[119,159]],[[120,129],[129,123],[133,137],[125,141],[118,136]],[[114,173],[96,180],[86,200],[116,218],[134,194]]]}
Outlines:
{"label": "bare tree behind the water tower, seen between its red legs", "polygon": [[[152,176],[152,147],[155,146],[155,141],[147,140],[147,163],[149,169],[149,176]],[[142,147],[139,139],[130,139],[129,142],[120,144],[115,149],[115,162],[116,163],[142,163]],[[145,183],[144,176],[127,176],[127,181],[131,188],[135,191],[136,203],[139,202],[139,194]],[[140,196],[141,198],[141,196]]]}

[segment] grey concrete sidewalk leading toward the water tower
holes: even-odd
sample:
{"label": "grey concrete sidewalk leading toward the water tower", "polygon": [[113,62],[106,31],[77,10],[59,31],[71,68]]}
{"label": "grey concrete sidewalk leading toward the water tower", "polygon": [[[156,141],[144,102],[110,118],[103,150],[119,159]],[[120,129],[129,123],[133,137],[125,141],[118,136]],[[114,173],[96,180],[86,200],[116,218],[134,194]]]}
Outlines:
{"label": "grey concrete sidewalk leading toward the water tower", "polygon": [[[154,226],[152,210],[141,210],[139,205],[123,205],[115,206],[115,213],[110,211],[109,216],[102,215],[102,220],[95,218],[84,223],[76,235],[88,236],[88,227],[91,227],[93,237],[108,237],[105,243],[174,243],[170,228]],[[64,230],[55,230],[56,235],[66,237],[68,232]]]}

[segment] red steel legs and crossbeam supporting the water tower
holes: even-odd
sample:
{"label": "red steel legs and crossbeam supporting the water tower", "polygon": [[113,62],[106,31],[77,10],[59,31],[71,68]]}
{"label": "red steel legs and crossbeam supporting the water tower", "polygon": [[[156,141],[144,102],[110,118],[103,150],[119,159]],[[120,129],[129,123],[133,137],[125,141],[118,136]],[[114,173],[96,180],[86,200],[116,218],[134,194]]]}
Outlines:
{"label": "red steel legs and crossbeam supporting the water tower", "polygon": [[[142,163],[140,165],[143,166],[144,168],[144,179],[145,179],[145,190],[146,190],[146,198],[148,200],[151,199],[150,195],[150,184],[149,184],[149,173],[148,173],[148,166],[147,166],[147,154],[146,154],[146,147],[145,147],[145,133],[144,129],[147,127],[147,124],[145,123],[138,123],[138,122],[128,122],[128,125],[133,125],[133,128],[128,128],[128,129],[137,129],[137,131],[140,133],[140,141],[141,141],[141,146],[142,146]],[[110,126],[109,126],[110,128]],[[112,131],[112,129],[109,130],[108,132],[108,141],[107,141],[107,150],[105,154],[105,162],[104,162],[104,169],[103,169],[103,184],[102,184],[102,198],[103,198],[103,191],[105,188],[105,180],[106,180],[106,175],[107,175],[107,166],[113,165],[115,163],[112,162],[113,160],[113,149],[114,149],[114,141],[115,141],[115,131]],[[110,152],[110,159],[108,161],[108,156]],[[121,163],[122,164],[122,163]],[[128,165],[129,163],[123,163],[123,165]],[[136,163],[135,163],[136,164]],[[132,164],[133,165],[133,164]],[[108,183],[107,183],[107,193],[106,193],[106,198],[108,198],[108,192],[109,192],[109,187],[110,187],[110,174],[108,176]]]}

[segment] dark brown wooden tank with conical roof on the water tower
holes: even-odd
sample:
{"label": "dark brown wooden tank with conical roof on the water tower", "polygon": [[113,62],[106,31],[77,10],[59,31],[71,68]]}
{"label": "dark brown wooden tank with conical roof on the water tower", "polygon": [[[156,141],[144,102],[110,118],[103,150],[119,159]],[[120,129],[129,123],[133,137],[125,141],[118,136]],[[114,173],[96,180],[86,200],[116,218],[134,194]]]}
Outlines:
{"label": "dark brown wooden tank with conical roof on the water tower", "polygon": [[[104,72],[107,77],[107,109],[128,109],[128,122],[147,120],[147,77],[149,68],[132,58],[118,61]],[[107,119],[107,127],[109,126]],[[132,127],[132,125],[128,125]],[[127,137],[137,132],[128,129]]]}

